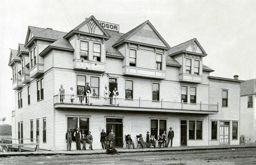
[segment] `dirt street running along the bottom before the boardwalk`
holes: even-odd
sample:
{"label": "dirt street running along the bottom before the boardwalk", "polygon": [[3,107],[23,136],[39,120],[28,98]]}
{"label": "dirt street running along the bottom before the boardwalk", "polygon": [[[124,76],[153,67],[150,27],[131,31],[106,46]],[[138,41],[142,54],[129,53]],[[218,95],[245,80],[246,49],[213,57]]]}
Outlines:
{"label": "dirt street running along the bottom before the boardwalk", "polygon": [[256,164],[256,148],[139,152],[120,155],[13,156],[0,164]]}

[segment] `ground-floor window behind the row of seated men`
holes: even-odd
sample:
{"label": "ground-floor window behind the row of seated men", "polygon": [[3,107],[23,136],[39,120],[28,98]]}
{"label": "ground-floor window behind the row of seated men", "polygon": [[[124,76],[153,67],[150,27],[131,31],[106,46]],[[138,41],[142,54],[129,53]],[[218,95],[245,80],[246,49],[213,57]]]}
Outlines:
{"label": "ground-floor window behind the row of seated men", "polygon": [[166,131],[166,120],[151,119],[150,120],[150,135],[154,135],[158,139]]}

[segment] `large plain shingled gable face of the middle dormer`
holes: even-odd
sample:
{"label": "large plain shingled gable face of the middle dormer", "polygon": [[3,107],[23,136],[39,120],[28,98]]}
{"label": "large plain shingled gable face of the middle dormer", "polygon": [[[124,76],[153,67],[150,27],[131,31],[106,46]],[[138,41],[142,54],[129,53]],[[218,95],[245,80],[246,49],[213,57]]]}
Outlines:
{"label": "large plain shingled gable face of the middle dormer", "polygon": [[146,23],[142,28],[138,29],[137,32],[132,34],[127,40],[166,47],[159,35],[150,27],[149,23]]}

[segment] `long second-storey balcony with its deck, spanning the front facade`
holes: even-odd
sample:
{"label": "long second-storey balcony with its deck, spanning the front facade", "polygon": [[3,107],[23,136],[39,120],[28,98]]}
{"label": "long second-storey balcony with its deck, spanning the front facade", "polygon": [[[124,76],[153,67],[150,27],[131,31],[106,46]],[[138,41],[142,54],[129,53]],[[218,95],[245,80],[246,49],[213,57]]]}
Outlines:
{"label": "long second-storey balcony with its deck, spanning the front facade", "polygon": [[218,104],[183,103],[174,101],[153,101],[141,99],[113,99],[104,97],[88,97],[64,95],[63,101],[60,95],[54,96],[55,108],[68,109],[105,109],[106,111],[141,111],[141,112],[170,112],[170,113],[197,113],[216,114]]}

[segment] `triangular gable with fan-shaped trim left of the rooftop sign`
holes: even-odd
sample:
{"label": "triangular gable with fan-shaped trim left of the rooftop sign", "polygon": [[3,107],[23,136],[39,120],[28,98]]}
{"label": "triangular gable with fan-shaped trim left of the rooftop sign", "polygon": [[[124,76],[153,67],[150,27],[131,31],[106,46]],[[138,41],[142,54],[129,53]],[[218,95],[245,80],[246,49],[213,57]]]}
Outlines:
{"label": "triangular gable with fan-shaped trim left of the rooftop sign", "polygon": [[89,20],[88,22],[86,22],[78,30],[81,31],[81,32],[86,32],[86,33],[104,35],[104,33],[102,32],[101,28],[98,27],[96,22],[94,20],[92,20],[92,19]]}

